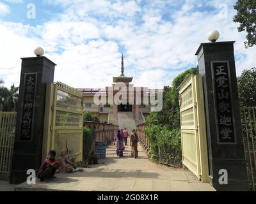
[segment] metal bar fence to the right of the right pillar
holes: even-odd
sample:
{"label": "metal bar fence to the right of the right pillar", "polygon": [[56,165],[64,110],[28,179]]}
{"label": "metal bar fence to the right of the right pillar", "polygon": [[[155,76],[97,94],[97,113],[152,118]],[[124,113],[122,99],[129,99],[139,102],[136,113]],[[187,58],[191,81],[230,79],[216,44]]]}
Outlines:
{"label": "metal bar fence to the right of the right pillar", "polygon": [[256,107],[242,107],[244,152],[250,188],[256,189]]}

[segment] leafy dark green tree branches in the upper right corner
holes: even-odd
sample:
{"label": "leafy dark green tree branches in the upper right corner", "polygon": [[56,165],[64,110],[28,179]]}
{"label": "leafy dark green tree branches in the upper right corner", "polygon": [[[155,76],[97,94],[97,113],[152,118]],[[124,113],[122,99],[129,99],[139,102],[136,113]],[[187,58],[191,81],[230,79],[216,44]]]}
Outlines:
{"label": "leafy dark green tree branches in the upper right corner", "polygon": [[247,32],[247,41],[244,42],[246,48],[256,45],[256,0],[238,0],[234,8],[237,14],[234,22],[240,23],[238,31]]}

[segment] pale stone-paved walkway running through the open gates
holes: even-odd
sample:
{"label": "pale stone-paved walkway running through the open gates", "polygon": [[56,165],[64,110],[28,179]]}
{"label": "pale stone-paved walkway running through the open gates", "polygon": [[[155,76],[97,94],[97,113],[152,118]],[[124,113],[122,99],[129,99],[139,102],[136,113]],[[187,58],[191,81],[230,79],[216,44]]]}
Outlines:
{"label": "pale stone-paved walkway running through the open gates", "polygon": [[126,147],[124,157],[117,157],[110,145],[106,159],[83,172],[56,174],[51,182],[26,183],[15,191],[214,191],[210,184],[198,181],[190,171],[152,163],[139,146],[139,157],[130,157]]}

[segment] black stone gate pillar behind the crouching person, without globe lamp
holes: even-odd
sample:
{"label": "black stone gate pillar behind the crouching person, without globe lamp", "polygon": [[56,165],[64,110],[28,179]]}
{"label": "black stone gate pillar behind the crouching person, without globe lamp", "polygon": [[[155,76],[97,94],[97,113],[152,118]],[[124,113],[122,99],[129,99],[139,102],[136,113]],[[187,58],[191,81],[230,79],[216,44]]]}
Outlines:
{"label": "black stone gate pillar behind the crouching person, without globe lamp", "polygon": [[46,83],[53,82],[55,66],[46,57],[22,58],[10,184],[26,181],[27,170],[40,167]]}

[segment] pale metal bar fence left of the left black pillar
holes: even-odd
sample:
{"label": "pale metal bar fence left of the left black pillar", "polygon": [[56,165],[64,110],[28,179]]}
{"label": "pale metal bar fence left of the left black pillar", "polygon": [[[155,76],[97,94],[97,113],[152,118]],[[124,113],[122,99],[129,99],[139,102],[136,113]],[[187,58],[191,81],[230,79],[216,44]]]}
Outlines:
{"label": "pale metal bar fence left of the left black pillar", "polygon": [[15,112],[0,112],[0,180],[10,179],[15,124]]}

